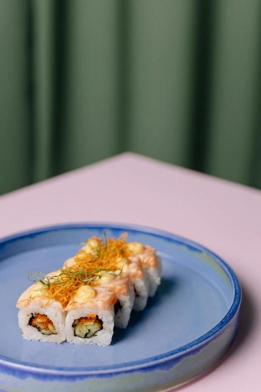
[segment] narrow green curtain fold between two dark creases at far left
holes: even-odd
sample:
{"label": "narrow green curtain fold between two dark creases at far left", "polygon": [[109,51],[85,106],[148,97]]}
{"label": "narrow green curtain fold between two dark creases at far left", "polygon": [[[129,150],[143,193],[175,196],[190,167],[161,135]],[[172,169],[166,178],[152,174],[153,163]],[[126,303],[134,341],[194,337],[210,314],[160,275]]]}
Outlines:
{"label": "narrow green curtain fold between two dark creases at far left", "polygon": [[55,8],[52,0],[33,0],[32,23],[32,83],[33,83],[33,181],[53,174],[52,134],[54,118],[54,53]]}

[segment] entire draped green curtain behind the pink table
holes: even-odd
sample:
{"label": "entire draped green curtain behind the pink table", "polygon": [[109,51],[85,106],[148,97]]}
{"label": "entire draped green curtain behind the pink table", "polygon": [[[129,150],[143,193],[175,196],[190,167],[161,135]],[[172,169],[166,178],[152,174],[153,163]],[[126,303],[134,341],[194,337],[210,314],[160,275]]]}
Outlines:
{"label": "entire draped green curtain behind the pink table", "polygon": [[260,0],[0,0],[0,193],[122,151],[261,188]]}

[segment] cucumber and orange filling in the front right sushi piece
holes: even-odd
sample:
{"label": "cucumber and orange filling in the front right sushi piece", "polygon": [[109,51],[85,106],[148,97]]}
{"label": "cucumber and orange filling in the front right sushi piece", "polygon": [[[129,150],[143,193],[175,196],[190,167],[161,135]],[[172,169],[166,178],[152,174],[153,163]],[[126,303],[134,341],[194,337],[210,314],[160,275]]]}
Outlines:
{"label": "cucumber and orange filling in the front right sushi piece", "polygon": [[95,314],[87,314],[73,321],[74,336],[90,338],[102,329],[102,321]]}

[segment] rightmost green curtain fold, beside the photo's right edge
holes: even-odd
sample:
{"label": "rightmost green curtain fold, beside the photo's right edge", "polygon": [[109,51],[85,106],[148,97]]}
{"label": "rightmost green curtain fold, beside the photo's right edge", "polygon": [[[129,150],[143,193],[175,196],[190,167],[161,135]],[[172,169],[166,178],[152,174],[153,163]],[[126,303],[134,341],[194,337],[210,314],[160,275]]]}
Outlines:
{"label": "rightmost green curtain fold, beside the photo's right edge", "polygon": [[255,170],[252,160],[256,115],[260,110],[260,6],[259,0],[219,0],[215,3],[205,167],[212,175],[243,184],[253,182],[256,186],[251,170]]}

